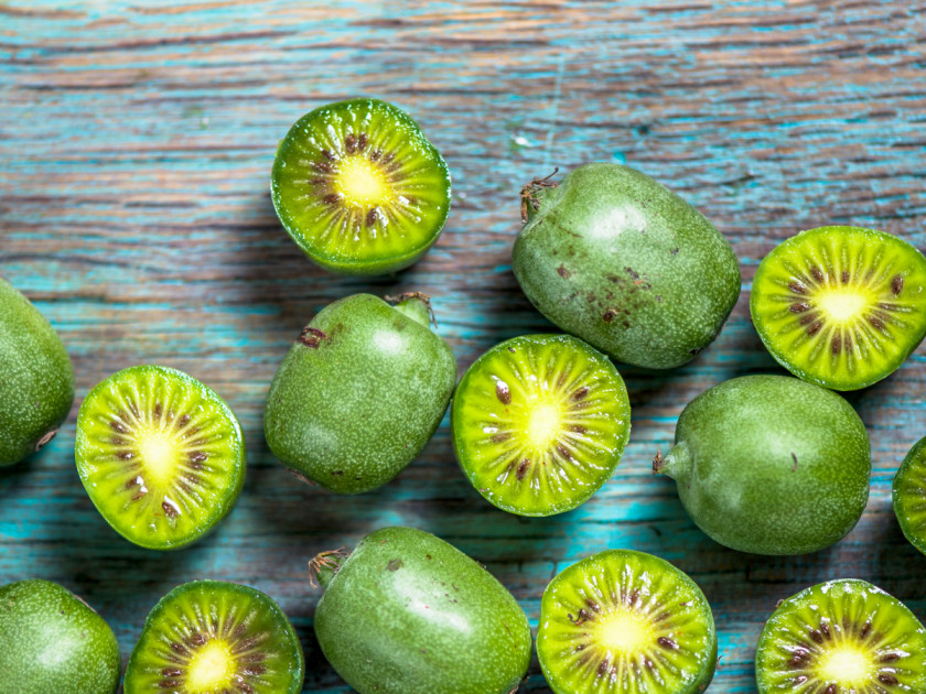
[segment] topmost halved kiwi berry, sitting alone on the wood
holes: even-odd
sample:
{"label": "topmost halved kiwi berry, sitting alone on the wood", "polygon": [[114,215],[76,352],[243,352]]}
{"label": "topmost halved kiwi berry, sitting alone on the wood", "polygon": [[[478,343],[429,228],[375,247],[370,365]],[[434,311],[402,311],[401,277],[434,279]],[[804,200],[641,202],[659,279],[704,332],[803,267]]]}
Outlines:
{"label": "topmost halved kiwi berry, sitting alone on the wood", "polygon": [[300,118],[271,176],[286,230],[315,263],[386,274],[416,262],[450,212],[450,173],[403,110],[353,99]]}

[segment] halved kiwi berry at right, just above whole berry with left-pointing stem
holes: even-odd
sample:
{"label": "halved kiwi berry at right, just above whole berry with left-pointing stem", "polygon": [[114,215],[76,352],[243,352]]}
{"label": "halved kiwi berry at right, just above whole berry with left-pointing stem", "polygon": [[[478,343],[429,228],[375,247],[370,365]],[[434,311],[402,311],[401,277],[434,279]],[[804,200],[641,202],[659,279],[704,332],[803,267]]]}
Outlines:
{"label": "halved kiwi berry at right, just above whole berry with left-pointing stem", "polygon": [[801,231],[760,263],[750,311],[798,378],[855,390],[892,373],[926,335],[926,258],[874,229]]}

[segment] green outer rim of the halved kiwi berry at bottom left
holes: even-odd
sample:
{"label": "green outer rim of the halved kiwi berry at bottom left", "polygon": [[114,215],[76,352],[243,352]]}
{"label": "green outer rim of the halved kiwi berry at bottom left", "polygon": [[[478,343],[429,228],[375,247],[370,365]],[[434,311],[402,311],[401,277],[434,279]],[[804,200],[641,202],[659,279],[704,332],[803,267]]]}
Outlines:
{"label": "green outer rim of the halved kiwi berry at bottom left", "polygon": [[265,593],[249,586],[224,581],[191,581],[190,583],[175,587],[158,601],[144,620],[141,629],[142,636],[132,650],[129,663],[126,666],[125,694],[150,694],[152,691],[147,687],[143,688],[140,684],[142,673],[146,670],[146,652],[142,648],[144,635],[149,630],[159,629],[163,612],[173,604],[197,599],[203,593],[222,593],[226,597],[230,595],[233,597],[240,597],[243,600],[257,601],[263,609],[269,610],[273,615],[276,622],[273,637],[277,641],[284,643],[291,659],[289,682],[284,690],[278,690],[273,694],[299,694],[302,691],[305,679],[305,658],[302,651],[302,644],[289,618],[280,609],[280,606]]}

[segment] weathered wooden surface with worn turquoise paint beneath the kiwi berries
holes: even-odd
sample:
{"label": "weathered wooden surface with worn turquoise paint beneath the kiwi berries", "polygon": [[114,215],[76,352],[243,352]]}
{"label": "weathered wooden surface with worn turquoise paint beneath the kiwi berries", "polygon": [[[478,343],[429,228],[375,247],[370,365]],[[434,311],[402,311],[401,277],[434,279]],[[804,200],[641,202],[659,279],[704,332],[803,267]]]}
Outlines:
{"label": "weathered wooden surface with worn turquoise paint beneath the kiwi berries", "polygon": [[[926,3],[915,0],[626,0],[496,3],[306,0],[7,0],[0,4],[0,272],[55,324],[78,401],[112,371],[189,371],[240,416],[249,478],[217,532],[174,554],[133,547],[99,518],[74,468],[74,415],[29,463],[0,473],[0,582],[84,595],[128,654],[151,606],[192,578],[266,590],[292,616],[306,692],[346,692],[311,629],[314,553],[390,523],[423,528],[485,563],[536,625],[566,564],[605,547],[653,552],[711,600],[722,660],[711,692],[754,692],[752,659],[775,603],[857,576],[926,618],[926,557],[908,546],[890,481],[926,434],[922,349],[851,395],[869,426],[874,488],[859,527],[812,556],[724,550],[688,520],[653,454],[692,397],[777,371],[746,308],[776,240],[825,223],[926,247]],[[416,268],[374,281],[314,269],[269,197],[277,141],[303,112],[354,95],[395,101],[444,153],[454,206]],[[336,498],[298,484],[261,435],[289,341],[357,292],[434,296],[461,369],[550,326],[517,289],[518,188],[553,166],[626,162],[670,184],[733,241],[744,290],[721,338],[670,373],[621,368],[633,434],[614,478],[550,519],[497,511],[453,460],[446,423],[394,484]],[[526,691],[548,692],[538,668]]]}

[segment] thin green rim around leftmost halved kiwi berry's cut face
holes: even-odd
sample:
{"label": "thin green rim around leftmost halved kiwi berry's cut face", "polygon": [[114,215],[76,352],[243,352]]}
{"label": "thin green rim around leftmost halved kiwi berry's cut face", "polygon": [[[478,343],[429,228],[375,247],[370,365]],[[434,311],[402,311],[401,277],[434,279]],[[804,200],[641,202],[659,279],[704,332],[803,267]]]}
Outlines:
{"label": "thin green rim around leftmost halved kiwi berry's cut face", "polygon": [[[89,447],[91,445],[84,432],[84,427],[82,426],[82,420],[84,420],[85,418],[90,418],[93,415],[93,413],[89,411],[89,408],[91,406],[91,401],[94,399],[95,393],[97,391],[108,388],[109,383],[112,380],[118,379],[122,375],[138,373],[141,373],[146,378],[172,378],[192,384],[195,389],[198,390],[200,394],[204,399],[211,401],[214,405],[216,405],[220,411],[225,413],[226,421],[229,422],[233,426],[233,432],[230,433],[230,436],[232,438],[238,442],[237,458],[234,465],[234,475],[227,480],[228,494],[226,495],[224,502],[220,506],[209,509],[212,512],[204,519],[204,523],[197,529],[197,532],[191,533],[185,538],[175,538],[170,543],[147,540],[142,535],[132,535],[126,532],[123,529],[121,529],[118,525],[118,523],[115,522],[115,519],[110,519],[109,514],[104,512],[104,510],[106,509],[107,499],[98,497],[94,489],[94,486],[88,479],[86,470],[82,465],[80,452],[85,447]],[[235,505],[238,502],[238,497],[241,495],[241,490],[245,487],[245,475],[247,466],[245,437],[244,433],[241,432],[241,425],[238,422],[238,418],[235,416],[235,413],[232,411],[228,404],[218,395],[218,393],[216,393],[214,390],[212,390],[201,381],[194,379],[189,373],[184,373],[183,371],[179,371],[177,369],[172,369],[170,367],[148,364],[122,369],[121,371],[118,371],[109,378],[100,381],[99,383],[97,383],[96,387],[94,387],[93,390],[90,390],[90,392],[84,399],[84,402],[80,405],[80,410],[77,413],[75,459],[77,464],[77,471],[80,476],[80,481],[84,485],[84,489],[86,490],[87,496],[94,502],[94,506],[96,507],[97,511],[99,511],[100,516],[109,524],[109,527],[132,544],[136,544],[140,547],[144,547],[146,550],[160,551],[173,551],[186,547],[193,544],[194,542],[202,540],[205,535],[212,532],[215,529],[215,527],[218,525],[218,523],[226,516],[228,516],[228,513],[232,511],[233,508],[235,508]]]}

